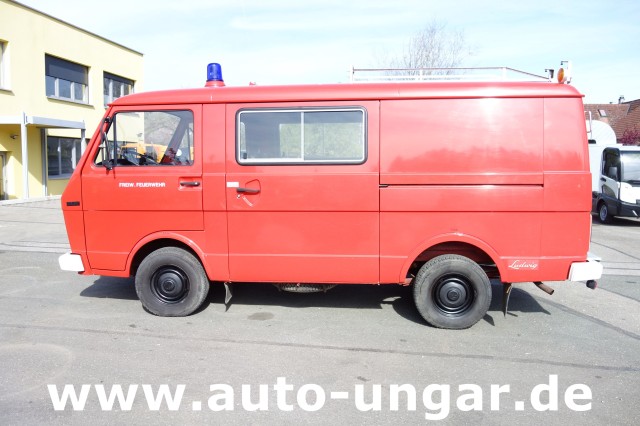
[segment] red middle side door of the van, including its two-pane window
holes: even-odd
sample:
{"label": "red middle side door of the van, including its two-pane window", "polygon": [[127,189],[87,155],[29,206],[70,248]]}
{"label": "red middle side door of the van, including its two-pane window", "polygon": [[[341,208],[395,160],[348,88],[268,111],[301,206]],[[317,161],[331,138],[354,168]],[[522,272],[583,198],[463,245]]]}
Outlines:
{"label": "red middle side door of the van, including its two-pane window", "polygon": [[232,281],[379,280],[379,103],[228,105]]}

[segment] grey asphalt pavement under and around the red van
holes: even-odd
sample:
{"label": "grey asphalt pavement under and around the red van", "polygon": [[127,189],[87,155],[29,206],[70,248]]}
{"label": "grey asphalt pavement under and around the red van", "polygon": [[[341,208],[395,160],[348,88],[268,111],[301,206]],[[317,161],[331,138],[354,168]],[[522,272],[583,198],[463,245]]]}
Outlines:
{"label": "grey asphalt pavement under and around the red van", "polygon": [[[196,314],[155,317],[131,279],[59,270],[59,203],[0,204],[1,425],[640,423],[639,221],[594,223],[597,290],[518,285],[505,318],[494,285],[485,318],[448,331],[400,286],[238,285],[228,309],[215,286]],[[66,385],[83,407],[56,410]],[[163,386],[179,407],[153,406]]]}

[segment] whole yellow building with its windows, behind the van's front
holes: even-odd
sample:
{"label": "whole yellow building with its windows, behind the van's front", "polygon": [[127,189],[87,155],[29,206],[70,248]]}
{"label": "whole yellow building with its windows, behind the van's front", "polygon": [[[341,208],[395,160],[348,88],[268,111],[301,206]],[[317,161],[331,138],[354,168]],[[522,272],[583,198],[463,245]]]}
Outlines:
{"label": "whole yellow building with its windows, behind the van's front", "polygon": [[141,53],[0,0],[0,200],[60,195],[107,103],[140,91],[142,73]]}

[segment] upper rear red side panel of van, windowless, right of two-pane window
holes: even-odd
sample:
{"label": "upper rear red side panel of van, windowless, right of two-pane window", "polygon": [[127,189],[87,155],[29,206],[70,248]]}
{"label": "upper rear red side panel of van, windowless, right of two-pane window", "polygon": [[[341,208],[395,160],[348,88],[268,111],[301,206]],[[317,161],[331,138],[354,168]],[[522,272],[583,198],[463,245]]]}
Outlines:
{"label": "upper rear red side panel of van, windowless, right of two-pane window", "polygon": [[381,183],[542,184],[542,99],[382,102]]}

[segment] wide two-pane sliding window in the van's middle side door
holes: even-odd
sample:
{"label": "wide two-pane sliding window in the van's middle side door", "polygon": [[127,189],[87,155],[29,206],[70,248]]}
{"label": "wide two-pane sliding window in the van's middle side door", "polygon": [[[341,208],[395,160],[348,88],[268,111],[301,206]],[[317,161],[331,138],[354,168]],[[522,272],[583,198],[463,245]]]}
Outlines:
{"label": "wide two-pane sliding window in the van's middle side door", "polygon": [[362,108],[242,110],[237,116],[240,164],[362,164]]}

